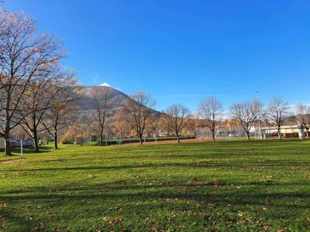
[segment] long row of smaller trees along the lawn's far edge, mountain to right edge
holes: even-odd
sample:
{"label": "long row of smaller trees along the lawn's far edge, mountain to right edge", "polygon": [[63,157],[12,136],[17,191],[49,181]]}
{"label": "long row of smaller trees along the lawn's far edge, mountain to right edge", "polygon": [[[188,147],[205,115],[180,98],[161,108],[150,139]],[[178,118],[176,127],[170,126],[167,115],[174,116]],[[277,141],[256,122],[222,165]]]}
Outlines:
{"label": "long row of smaller trees along the lawn's far edge, mountain to right edge", "polygon": [[[192,115],[190,110],[182,104],[173,104],[162,113],[158,113],[155,111],[155,100],[142,90],[130,94],[122,108],[113,109],[113,102],[116,99],[113,99],[111,93],[111,87],[94,87],[90,92],[92,105],[96,110],[88,122],[90,127],[97,131],[101,143],[107,119],[111,127],[116,129],[121,137],[127,134],[128,129],[129,131],[133,129],[139,136],[140,143],[142,143],[144,133],[157,134],[159,129],[168,134],[174,133],[179,142],[179,136],[184,130],[193,130],[195,124],[197,128],[197,121],[198,126],[209,128],[213,140],[216,138],[216,129],[224,122],[229,122],[230,125],[236,122],[244,129],[248,139],[253,126],[263,126],[264,124],[277,129],[279,138],[281,138],[281,126],[283,126],[284,120],[293,120],[295,123],[304,124],[307,136],[309,133],[310,107],[300,103],[293,111],[288,102],[283,101],[281,97],[273,97],[267,106],[264,106],[262,101],[257,98],[234,103],[230,107],[229,113],[225,114],[222,103],[215,96],[211,96],[200,101],[197,106],[197,115]],[[112,117],[112,115],[114,116]]]}

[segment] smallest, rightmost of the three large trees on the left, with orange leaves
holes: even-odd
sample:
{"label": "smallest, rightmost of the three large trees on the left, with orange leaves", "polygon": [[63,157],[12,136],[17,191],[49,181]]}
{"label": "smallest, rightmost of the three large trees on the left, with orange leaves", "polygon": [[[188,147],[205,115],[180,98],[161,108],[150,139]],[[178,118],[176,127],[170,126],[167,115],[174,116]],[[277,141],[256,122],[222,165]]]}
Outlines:
{"label": "smallest, rightmost of the three large trees on the left, with orange leaves", "polygon": [[73,78],[75,75],[70,72],[68,79],[57,83],[57,94],[41,119],[41,123],[54,139],[54,149],[58,149],[58,131],[76,124],[78,119],[82,94],[81,87],[77,85],[78,81]]}

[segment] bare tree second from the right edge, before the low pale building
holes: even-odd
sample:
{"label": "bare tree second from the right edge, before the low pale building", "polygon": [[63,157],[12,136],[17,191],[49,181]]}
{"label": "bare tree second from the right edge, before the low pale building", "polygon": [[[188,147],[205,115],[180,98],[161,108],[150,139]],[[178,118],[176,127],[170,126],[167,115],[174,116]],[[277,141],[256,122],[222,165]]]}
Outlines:
{"label": "bare tree second from the right edge, before the low pale building", "polygon": [[281,97],[274,96],[266,108],[266,115],[269,121],[273,122],[274,128],[277,129],[279,138],[282,138],[281,126],[283,125],[283,119],[292,115],[288,101],[283,101]]}

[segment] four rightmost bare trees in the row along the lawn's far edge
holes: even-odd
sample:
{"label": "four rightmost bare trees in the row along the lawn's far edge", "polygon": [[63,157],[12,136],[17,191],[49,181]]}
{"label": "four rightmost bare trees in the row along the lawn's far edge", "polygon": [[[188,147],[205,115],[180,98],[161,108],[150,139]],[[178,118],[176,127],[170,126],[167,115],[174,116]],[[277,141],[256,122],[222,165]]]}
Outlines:
{"label": "four rightmost bare trees in the row along the lawn's far edge", "polygon": [[281,138],[281,126],[285,120],[304,124],[307,137],[309,136],[310,106],[299,103],[294,110],[290,108],[288,101],[284,101],[279,96],[274,96],[267,106],[264,106],[257,98],[234,103],[226,115],[223,113],[222,103],[216,97],[211,96],[199,102],[198,110],[202,119],[206,120],[206,126],[211,130],[213,140],[215,140],[216,126],[223,123],[223,117],[241,126],[248,139],[253,126],[264,124],[265,126],[272,125],[277,129],[279,138]]}

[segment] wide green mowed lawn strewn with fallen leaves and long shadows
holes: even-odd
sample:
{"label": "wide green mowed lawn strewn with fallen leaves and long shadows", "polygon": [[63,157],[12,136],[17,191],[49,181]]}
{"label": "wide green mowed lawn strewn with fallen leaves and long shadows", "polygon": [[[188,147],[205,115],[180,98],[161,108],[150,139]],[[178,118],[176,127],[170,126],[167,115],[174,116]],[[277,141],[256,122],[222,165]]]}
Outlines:
{"label": "wide green mowed lawn strewn with fallen leaves and long shadows", "polygon": [[309,148],[43,146],[0,164],[0,231],[309,231]]}

